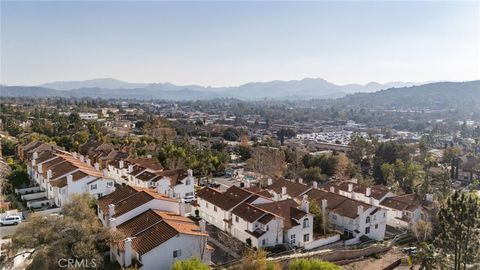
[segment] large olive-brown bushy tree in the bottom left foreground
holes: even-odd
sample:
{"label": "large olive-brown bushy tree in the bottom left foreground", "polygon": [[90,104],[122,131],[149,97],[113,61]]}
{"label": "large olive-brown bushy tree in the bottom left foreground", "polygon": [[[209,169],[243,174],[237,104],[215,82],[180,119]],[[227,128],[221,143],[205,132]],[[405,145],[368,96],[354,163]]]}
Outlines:
{"label": "large olive-brown bushy tree in the bottom left foreground", "polygon": [[62,216],[33,215],[12,236],[13,254],[22,250],[32,259],[27,269],[57,269],[62,258],[95,261],[103,265],[103,252],[113,235],[99,222],[88,194],[74,195]]}

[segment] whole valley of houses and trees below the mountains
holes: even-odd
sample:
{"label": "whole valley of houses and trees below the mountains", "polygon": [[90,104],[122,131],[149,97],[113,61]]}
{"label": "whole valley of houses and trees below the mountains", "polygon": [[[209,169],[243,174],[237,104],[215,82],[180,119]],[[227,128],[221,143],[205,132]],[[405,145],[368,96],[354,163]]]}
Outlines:
{"label": "whole valley of houses and trees below the mountains", "polygon": [[[478,254],[475,111],[334,100],[1,99],[8,269],[48,263],[42,256],[58,258],[54,267],[65,256],[57,247],[87,249],[65,265],[105,269],[250,269],[260,261],[265,269],[417,269],[467,240],[463,256]],[[78,231],[57,239],[52,226]],[[452,226],[470,233],[458,238]],[[474,267],[474,257],[462,265]]]}

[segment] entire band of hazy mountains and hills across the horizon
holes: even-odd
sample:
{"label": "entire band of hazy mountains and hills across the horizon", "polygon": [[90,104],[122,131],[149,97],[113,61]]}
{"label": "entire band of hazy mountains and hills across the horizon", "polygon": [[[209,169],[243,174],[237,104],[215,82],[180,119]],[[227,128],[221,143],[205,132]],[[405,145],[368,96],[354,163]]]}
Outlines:
{"label": "entire band of hazy mountains and hills across the horizon", "polygon": [[[52,89],[39,86],[1,86],[2,96],[37,97],[100,97],[100,98],[136,98],[166,100],[205,100],[213,98],[238,98],[242,100],[259,99],[335,99],[334,103],[358,105],[360,107],[388,108],[452,108],[458,106],[479,105],[480,81],[438,82],[418,86],[389,88],[374,93],[352,92],[373,91],[390,84],[369,83],[367,85],[336,85],[322,79],[303,79],[296,81],[271,81],[247,83],[236,87],[202,87],[197,85],[177,86],[170,83],[145,84],[134,87],[122,81],[100,79],[84,84],[70,82],[72,85],[96,85],[104,87],[81,87],[72,90]],[[105,88],[106,84],[117,88]],[[410,83],[394,83],[410,84]],[[45,84],[48,85],[48,84]],[[58,88],[60,85],[57,85]],[[65,85],[64,85],[65,86]],[[123,86],[124,88],[118,88]],[[132,87],[132,88],[125,88]]]}

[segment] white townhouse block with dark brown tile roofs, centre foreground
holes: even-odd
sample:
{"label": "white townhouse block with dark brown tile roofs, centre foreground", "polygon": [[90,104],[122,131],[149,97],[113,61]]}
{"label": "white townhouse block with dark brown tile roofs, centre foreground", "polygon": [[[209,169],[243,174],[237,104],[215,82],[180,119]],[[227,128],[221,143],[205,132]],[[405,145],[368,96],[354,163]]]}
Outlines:
{"label": "white townhouse block with dark brown tile roofs, centre foreground", "polygon": [[203,188],[197,192],[200,217],[252,247],[288,243],[303,246],[313,240],[309,202],[274,201],[251,190],[232,186],[225,192]]}

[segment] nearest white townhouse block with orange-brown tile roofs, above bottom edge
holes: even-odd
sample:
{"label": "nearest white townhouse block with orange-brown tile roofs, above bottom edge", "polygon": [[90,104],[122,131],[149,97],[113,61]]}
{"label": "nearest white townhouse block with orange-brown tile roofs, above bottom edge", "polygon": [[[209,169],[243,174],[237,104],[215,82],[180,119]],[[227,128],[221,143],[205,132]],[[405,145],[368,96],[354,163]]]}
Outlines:
{"label": "nearest white townhouse block with orange-brown tile roofs, above bottom edge", "polygon": [[170,269],[175,260],[191,257],[210,263],[205,223],[185,217],[185,204],[155,189],[131,186],[118,188],[97,204],[102,224],[121,235],[110,246],[110,258],[122,267]]}

